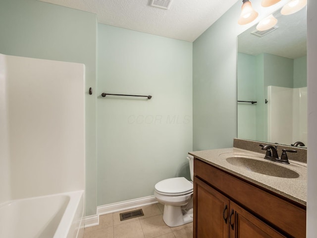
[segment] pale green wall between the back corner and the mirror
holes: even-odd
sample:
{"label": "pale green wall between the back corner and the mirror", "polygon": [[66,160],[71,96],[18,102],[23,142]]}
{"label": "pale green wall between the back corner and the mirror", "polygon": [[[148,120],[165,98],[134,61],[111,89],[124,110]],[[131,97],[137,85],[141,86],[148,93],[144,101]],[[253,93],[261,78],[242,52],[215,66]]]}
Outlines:
{"label": "pale green wall between the back corner and the mirror", "polygon": [[234,4],[193,43],[193,149],[232,147],[237,136],[237,27]]}

